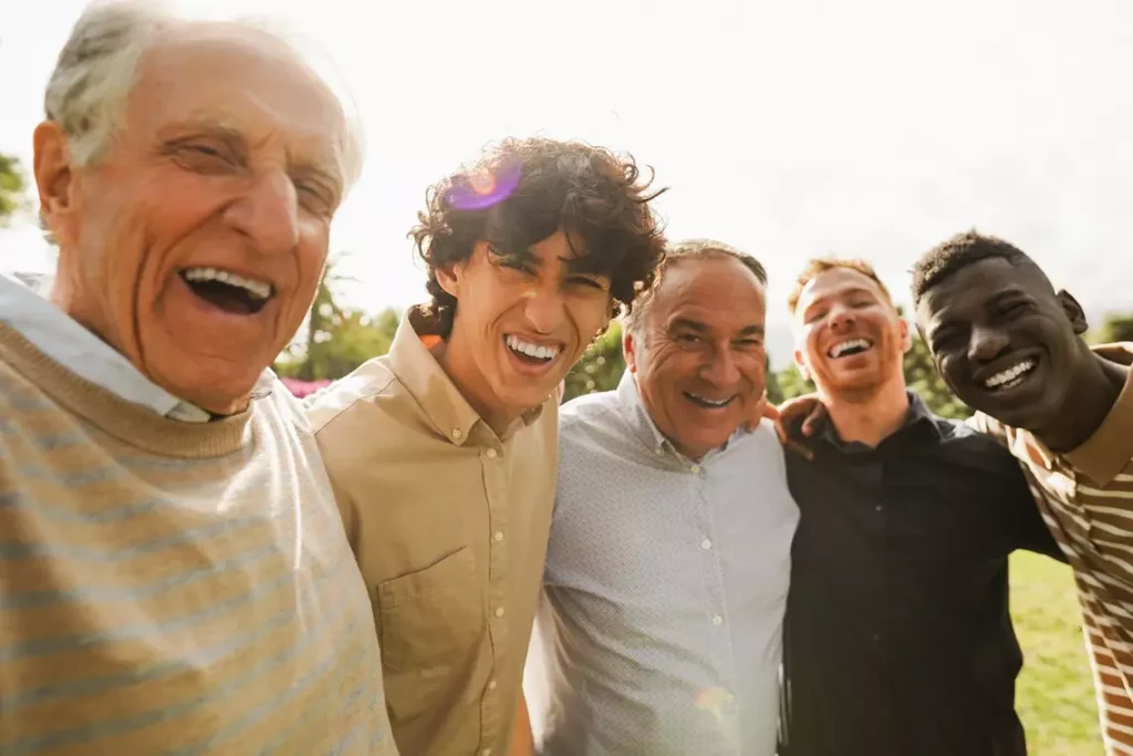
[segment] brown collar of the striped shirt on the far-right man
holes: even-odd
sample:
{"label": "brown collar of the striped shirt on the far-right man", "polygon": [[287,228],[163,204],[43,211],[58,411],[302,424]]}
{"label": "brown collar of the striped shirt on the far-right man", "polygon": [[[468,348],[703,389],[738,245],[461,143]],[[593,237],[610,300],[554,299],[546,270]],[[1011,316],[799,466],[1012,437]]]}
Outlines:
{"label": "brown collar of the striped shirt on the far-right man", "polygon": [[[1097,346],[1093,351],[1118,365],[1133,364],[1133,342],[1130,341]],[[1053,457],[1038,439],[1033,436],[1031,439],[1040,455]],[[1082,445],[1066,452],[1066,461],[1102,485],[1117,477],[1131,459],[1133,459],[1133,369],[1125,379],[1125,385],[1117,394],[1117,401],[1093,435]]]}

